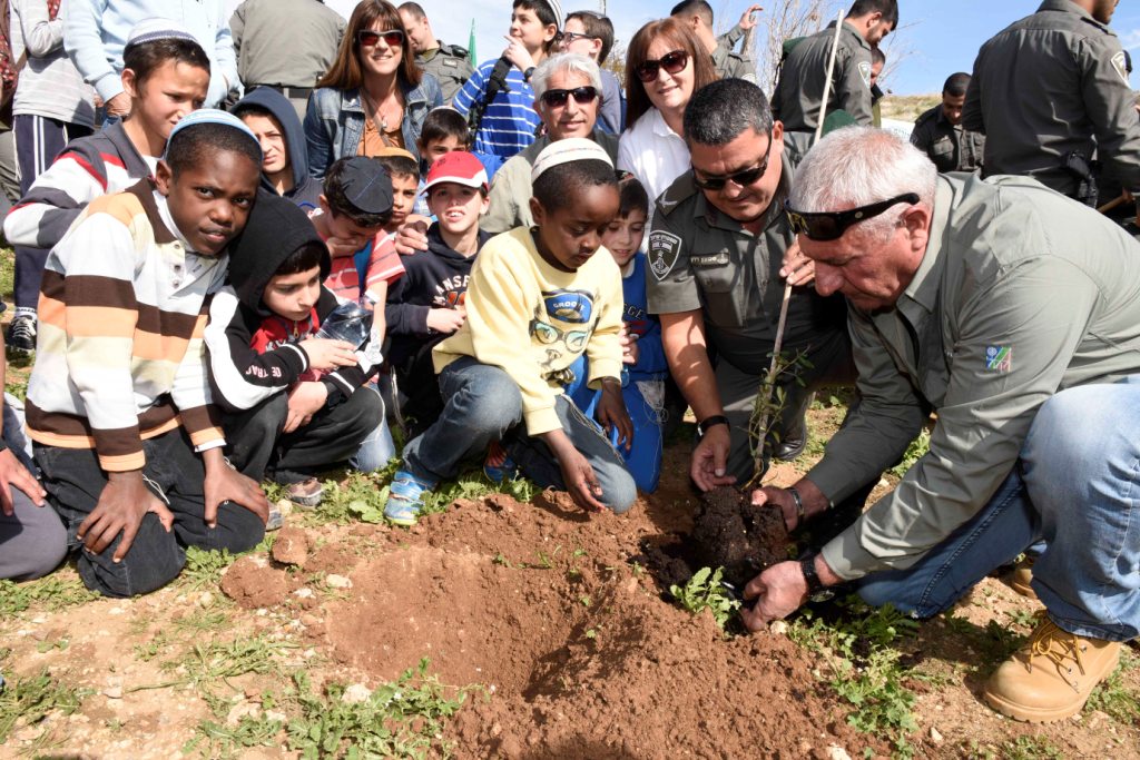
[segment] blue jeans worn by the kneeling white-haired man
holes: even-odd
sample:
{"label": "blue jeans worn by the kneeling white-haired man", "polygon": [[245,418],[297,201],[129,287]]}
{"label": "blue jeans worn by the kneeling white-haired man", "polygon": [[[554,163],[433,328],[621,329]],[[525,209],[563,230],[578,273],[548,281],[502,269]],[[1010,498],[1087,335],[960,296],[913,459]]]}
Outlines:
{"label": "blue jeans worn by the kneeling white-haired man", "polygon": [[969,522],[907,570],[857,581],[870,604],[929,618],[1043,539],[1033,590],[1060,628],[1140,634],[1140,375],[1049,399],[1013,471]]}

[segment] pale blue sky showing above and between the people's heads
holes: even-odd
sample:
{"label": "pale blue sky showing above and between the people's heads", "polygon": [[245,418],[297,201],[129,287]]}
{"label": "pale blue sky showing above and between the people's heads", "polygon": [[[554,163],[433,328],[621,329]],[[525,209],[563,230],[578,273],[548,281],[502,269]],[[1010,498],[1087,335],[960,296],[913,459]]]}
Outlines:
{"label": "pale blue sky showing above and between the people's heads", "polygon": [[[511,19],[510,0],[418,0],[427,11],[432,27],[445,42],[466,47],[471,21],[475,21],[477,50],[480,60],[497,57],[505,47]],[[351,13],[355,0],[326,0],[341,13]],[[561,0],[564,10],[601,7],[597,0]],[[628,42],[645,22],[668,13],[675,0],[610,0],[608,13],[617,36]],[[774,0],[762,5],[774,5]],[[398,3],[397,3],[398,5]],[[710,0],[717,14],[717,26],[727,28],[750,3],[747,0]],[[905,51],[902,64],[894,68],[885,84],[899,95],[938,92],[946,76],[956,71],[970,71],[978,48],[1011,22],[1037,9],[1040,0],[901,0],[902,28],[887,38],[888,57],[891,48]],[[764,23],[764,13],[760,14]],[[1140,9],[1135,3],[1121,3],[1113,18],[1113,28],[1125,48],[1140,56]],[[1138,57],[1140,62],[1140,57]],[[1140,76],[1140,73],[1137,74]],[[1137,85],[1133,77],[1133,87]]]}

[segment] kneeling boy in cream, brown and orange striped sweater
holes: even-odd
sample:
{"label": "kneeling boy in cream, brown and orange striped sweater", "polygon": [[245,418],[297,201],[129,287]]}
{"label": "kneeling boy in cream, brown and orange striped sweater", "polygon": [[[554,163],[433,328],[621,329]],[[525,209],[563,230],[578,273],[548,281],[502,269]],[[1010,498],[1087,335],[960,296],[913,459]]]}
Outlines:
{"label": "kneeling boy in cream, brown and orange striped sweater", "polygon": [[48,256],[27,428],[80,577],[107,596],[170,582],[186,546],[263,536],[264,495],[222,457],[203,342],[260,175],[249,128],[196,112],[153,181],[90,203]]}

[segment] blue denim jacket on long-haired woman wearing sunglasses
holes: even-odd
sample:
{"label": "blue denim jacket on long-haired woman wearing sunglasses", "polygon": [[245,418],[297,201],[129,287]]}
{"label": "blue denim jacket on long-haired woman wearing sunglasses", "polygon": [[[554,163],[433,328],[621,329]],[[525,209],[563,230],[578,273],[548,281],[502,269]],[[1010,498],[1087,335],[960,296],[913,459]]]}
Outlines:
{"label": "blue denim jacket on long-haired woman wearing sunglasses", "polygon": [[[443,105],[439,83],[431,74],[424,74],[418,87],[404,82],[404,147],[420,161],[416,140],[423,130],[427,112]],[[334,161],[355,156],[364,136],[364,106],[360,91],[318,88],[309,98],[304,114],[304,140],[309,148],[309,173],[323,179]]]}

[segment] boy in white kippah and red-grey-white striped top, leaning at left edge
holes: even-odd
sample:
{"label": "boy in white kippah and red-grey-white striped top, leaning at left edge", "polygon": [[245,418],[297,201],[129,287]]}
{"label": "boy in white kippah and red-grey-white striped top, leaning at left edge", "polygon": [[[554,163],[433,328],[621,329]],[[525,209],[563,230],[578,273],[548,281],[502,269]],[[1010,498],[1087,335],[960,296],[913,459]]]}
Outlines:
{"label": "boy in white kippah and red-grey-white striped top, leaning at left edge", "polygon": [[206,96],[210,58],[194,35],[172,21],[139,23],[123,63],[131,114],[68,142],[5,218],[5,235],[17,246],[16,314],[8,333],[14,349],[35,348],[35,297],[48,251],[91,201],[150,177],[171,128]]}

